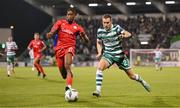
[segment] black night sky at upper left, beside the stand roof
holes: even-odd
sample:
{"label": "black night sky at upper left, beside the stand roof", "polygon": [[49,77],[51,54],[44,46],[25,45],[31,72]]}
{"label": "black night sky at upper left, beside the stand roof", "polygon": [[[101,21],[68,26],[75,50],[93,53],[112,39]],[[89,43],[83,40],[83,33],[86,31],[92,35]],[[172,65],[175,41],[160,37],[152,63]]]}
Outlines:
{"label": "black night sky at upper left, beside the stand roof", "polygon": [[51,22],[51,16],[22,0],[0,1],[0,28],[14,26],[14,41],[19,47],[17,55],[27,48],[34,32],[43,32]]}

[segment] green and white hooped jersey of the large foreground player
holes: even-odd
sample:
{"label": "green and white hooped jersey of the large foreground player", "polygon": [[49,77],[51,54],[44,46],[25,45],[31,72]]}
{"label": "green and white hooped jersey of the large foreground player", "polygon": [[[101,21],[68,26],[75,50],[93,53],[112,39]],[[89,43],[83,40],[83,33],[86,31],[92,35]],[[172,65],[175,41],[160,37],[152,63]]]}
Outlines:
{"label": "green and white hooped jersey of the large foreground player", "polygon": [[112,28],[109,31],[106,31],[104,28],[99,28],[97,31],[97,39],[101,40],[104,45],[103,54],[109,56],[121,58],[122,51],[122,39],[120,34],[124,32],[124,29],[119,25],[112,25]]}

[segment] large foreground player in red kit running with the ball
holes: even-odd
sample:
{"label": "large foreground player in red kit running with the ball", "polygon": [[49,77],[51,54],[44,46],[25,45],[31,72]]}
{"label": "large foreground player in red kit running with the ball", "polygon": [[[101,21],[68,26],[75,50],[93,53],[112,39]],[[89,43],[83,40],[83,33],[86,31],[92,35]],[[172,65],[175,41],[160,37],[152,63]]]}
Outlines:
{"label": "large foreground player in red kit running with the ball", "polygon": [[69,8],[66,19],[58,20],[51,28],[51,31],[47,33],[47,38],[51,38],[55,33],[58,33],[55,54],[59,71],[63,79],[66,79],[67,86],[65,90],[71,89],[73,83],[71,64],[75,54],[76,37],[80,36],[83,41],[89,43],[89,38],[83,28],[74,21],[76,14],[74,8]]}

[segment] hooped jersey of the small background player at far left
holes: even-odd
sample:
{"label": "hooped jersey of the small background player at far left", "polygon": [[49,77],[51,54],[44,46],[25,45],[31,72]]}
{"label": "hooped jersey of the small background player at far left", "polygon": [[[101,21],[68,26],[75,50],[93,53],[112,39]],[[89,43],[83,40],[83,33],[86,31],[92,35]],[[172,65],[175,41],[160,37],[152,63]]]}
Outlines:
{"label": "hooped jersey of the small background player at far left", "polygon": [[12,51],[11,49],[17,49],[18,46],[16,45],[16,42],[12,41],[12,42],[6,42],[6,50],[7,50],[7,53],[6,55],[7,56],[14,56],[16,55],[15,51]]}

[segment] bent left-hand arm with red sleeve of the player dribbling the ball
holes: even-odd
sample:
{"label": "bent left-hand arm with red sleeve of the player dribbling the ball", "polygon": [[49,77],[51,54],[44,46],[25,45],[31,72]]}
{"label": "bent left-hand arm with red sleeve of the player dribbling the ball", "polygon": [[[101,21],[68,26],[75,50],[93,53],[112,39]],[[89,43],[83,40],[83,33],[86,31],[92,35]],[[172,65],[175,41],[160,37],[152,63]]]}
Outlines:
{"label": "bent left-hand arm with red sleeve of the player dribbling the ball", "polygon": [[62,23],[62,21],[61,21],[61,20],[58,20],[58,21],[53,25],[53,27],[51,28],[51,31],[46,34],[46,37],[47,37],[48,39],[51,38],[52,36],[54,36],[55,33],[60,29],[61,23]]}

